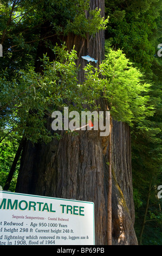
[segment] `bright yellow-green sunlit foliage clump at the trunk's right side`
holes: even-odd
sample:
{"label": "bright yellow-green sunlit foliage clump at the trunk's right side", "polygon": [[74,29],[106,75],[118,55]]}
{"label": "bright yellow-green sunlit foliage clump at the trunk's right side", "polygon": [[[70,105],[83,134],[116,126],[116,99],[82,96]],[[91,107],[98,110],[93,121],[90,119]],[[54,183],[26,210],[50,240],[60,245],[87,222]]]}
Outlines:
{"label": "bright yellow-green sunlit foliage clump at the trunk's right side", "polygon": [[133,68],[122,51],[110,50],[99,72],[95,69],[93,74],[90,65],[85,70],[86,83],[93,81],[94,88],[101,89],[115,120],[133,125],[153,115],[148,96],[151,85],[142,83],[141,72]]}

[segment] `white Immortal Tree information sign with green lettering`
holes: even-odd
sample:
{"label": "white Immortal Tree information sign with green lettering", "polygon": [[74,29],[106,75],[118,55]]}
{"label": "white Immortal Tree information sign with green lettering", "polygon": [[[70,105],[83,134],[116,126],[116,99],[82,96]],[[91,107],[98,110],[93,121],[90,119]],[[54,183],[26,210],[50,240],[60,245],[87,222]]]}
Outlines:
{"label": "white Immortal Tree information sign with green lettering", "polygon": [[94,244],[94,203],[0,191],[0,245]]}

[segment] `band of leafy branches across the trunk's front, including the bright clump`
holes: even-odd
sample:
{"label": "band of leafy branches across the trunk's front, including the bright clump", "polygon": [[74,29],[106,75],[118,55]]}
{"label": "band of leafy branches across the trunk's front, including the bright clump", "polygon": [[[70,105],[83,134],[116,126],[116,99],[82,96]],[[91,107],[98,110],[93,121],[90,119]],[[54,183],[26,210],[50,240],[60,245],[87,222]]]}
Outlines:
{"label": "band of leafy branches across the trunk's front, including the bright clump", "polygon": [[54,62],[46,55],[41,60],[43,75],[29,67],[9,81],[7,70],[1,76],[1,127],[8,124],[7,131],[17,131],[34,143],[49,142],[52,136],[46,123],[53,111],[64,106],[81,111],[84,103],[96,108],[101,92],[116,120],[131,125],[153,114],[147,95],[150,85],[141,83],[141,73],[121,51],[111,50],[100,70],[88,64],[83,84],[77,81],[76,51],[69,53],[65,45],[56,46],[53,51]]}

